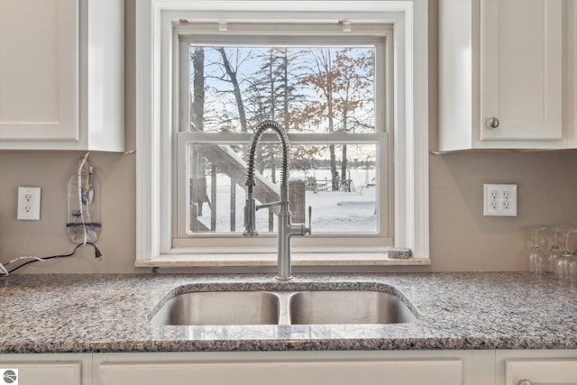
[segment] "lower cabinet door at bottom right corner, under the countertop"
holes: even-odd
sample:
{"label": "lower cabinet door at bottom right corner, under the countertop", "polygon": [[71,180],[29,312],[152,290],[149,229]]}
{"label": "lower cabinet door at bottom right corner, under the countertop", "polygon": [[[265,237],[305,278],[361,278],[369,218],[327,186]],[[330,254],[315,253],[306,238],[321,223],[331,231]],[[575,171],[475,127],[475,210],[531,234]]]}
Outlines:
{"label": "lower cabinet door at bottom right corner, under the countertop", "polygon": [[507,360],[505,384],[577,385],[577,360]]}

